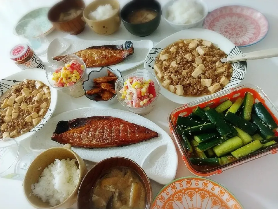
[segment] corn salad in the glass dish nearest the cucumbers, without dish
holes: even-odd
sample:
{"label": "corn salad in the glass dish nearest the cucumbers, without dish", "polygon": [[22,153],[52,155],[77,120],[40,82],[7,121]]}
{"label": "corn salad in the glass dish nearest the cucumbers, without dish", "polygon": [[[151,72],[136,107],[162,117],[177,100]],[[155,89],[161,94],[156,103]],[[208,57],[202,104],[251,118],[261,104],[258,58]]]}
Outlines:
{"label": "corn salad in the glass dish nearest the cucumbers, without dish", "polygon": [[142,77],[129,77],[124,82],[120,93],[128,107],[143,107],[156,98],[153,81]]}

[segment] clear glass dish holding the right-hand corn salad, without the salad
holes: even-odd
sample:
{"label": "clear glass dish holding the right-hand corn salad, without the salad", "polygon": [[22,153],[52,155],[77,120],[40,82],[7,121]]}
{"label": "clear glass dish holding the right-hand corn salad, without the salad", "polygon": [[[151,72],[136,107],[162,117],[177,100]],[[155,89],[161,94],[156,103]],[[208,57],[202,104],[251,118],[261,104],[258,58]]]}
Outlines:
{"label": "clear glass dish holding the right-hand corn salad, without the salad", "polygon": [[[125,101],[122,99],[122,94],[120,93],[120,90],[122,89],[124,82],[129,78],[129,77],[142,77],[145,80],[151,79],[154,83],[155,90],[156,90],[156,97],[154,100],[149,103],[148,105],[142,106],[142,107],[128,107]],[[119,100],[119,102],[125,106],[129,111],[134,112],[138,115],[146,115],[150,113],[153,110],[153,107],[156,105],[157,98],[160,94],[160,85],[157,80],[157,78],[147,69],[138,69],[133,73],[130,73],[129,75],[126,75],[122,78],[119,78],[116,81],[115,84],[115,89],[116,89],[116,96]]]}

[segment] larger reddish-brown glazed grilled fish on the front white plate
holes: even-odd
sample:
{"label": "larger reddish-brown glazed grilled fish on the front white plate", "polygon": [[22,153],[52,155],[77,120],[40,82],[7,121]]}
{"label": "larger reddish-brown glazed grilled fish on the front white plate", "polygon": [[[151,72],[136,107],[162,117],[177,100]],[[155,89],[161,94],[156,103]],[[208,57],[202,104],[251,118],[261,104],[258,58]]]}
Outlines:
{"label": "larger reddish-brown glazed grilled fish on the front white plate", "polygon": [[61,120],[51,137],[60,144],[72,147],[119,147],[158,137],[158,133],[146,127],[109,116]]}

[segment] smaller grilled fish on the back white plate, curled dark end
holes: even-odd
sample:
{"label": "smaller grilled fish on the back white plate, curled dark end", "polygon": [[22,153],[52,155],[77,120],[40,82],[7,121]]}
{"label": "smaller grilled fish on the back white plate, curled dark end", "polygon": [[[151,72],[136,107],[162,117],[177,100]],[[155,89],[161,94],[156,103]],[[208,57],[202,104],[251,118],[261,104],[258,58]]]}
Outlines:
{"label": "smaller grilled fish on the back white plate, curled dark end", "polygon": [[[125,42],[125,49],[122,45],[91,46],[74,54],[80,57],[87,67],[103,67],[118,64],[133,53],[133,44],[131,41],[127,41]],[[56,56],[53,57],[53,60],[60,61],[65,56],[67,55]]]}

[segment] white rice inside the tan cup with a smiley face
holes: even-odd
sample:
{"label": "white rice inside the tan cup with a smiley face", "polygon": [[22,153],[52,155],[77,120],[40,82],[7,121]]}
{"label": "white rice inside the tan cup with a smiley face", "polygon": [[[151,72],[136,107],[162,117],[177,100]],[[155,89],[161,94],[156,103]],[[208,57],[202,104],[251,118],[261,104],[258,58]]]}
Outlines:
{"label": "white rice inside the tan cup with a smiley face", "polygon": [[116,9],[113,9],[111,4],[105,4],[99,6],[94,12],[91,11],[88,16],[91,20],[104,20],[114,15],[115,12]]}

